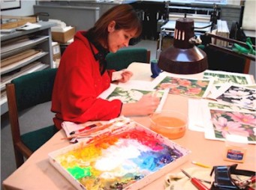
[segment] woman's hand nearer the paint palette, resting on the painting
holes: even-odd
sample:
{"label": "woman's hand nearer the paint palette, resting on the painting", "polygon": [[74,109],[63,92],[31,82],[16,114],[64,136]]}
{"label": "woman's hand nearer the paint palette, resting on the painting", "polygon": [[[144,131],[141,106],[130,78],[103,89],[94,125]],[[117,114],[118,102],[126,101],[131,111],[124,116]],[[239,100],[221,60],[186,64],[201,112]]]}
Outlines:
{"label": "woman's hand nearer the paint palette, resting on the painting", "polygon": [[152,114],[160,103],[160,99],[154,94],[146,94],[134,103],[122,105],[121,114],[124,116],[149,115]]}

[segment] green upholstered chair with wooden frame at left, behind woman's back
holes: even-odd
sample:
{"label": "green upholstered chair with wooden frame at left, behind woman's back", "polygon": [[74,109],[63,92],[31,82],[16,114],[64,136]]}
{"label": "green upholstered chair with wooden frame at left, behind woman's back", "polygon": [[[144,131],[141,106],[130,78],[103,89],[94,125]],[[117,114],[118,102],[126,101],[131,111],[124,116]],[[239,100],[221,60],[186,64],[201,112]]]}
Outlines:
{"label": "green upholstered chair with wooden frame at left, behind woman's back", "polygon": [[29,73],[12,80],[11,83],[6,85],[17,168],[23,165],[24,157],[28,159],[35,150],[58,131],[56,126],[52,125],[43,128],[38,127],[39,129],[35,131],[21,135],[20,128],[22,126],[19,123],[20,111],[51,100],[56,70],[47,69]]}

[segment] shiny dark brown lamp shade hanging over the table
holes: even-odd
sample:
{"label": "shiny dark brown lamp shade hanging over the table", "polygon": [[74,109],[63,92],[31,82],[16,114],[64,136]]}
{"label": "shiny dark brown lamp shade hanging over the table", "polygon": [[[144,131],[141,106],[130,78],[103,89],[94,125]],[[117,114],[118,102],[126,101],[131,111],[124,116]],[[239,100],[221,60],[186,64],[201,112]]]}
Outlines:
{"label": "shiny dark brown lamp shade hanging over the table", "polygon": [[176,21],[173,46],[161,52],[158,67],[176,74],[201,73],[208,68],[206,53],[191,43],[194,37],[194,20],[182,18]]}

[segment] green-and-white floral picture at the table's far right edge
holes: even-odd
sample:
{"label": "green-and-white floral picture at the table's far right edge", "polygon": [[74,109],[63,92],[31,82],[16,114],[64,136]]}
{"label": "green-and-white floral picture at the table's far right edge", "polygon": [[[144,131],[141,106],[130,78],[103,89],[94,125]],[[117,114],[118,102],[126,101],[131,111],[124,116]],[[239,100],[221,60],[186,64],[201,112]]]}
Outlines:
{"label": "green-and-white floral picture at the table's far right edge", "polygon": [[224,71],[206,70],[203,72],[203,79],[214,79],[213,85],[220,86],[230,83],[236,85],[251,85],[251,77],[247,74],[230,73]]}

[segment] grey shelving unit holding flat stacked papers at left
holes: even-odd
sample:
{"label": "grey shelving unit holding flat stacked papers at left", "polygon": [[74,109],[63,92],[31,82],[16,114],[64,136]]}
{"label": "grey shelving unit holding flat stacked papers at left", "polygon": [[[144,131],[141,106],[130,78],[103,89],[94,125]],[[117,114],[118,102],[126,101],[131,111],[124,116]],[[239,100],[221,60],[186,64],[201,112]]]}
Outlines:
{"label": "grey shelving unit holding flat stacked papers at left", "polygon": [[[1,64],[10,61],[5,67],[1,66],[1,114],[8,111],[5,84],[26,73],[33,73],[46,68],[53,68],[53,48],[50,28],[53,22],[37,22],[40,28],[28,31],[15,31],[1,35]],[[26,52],[32,55],[19,59]]]}

